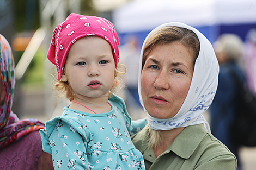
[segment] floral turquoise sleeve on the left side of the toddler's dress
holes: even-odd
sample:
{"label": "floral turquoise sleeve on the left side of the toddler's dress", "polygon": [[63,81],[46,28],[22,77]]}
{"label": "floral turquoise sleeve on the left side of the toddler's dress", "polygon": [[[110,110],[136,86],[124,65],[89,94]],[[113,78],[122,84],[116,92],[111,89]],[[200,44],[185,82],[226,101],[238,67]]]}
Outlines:
{"label": "floral turquoise sleeve on the left side of the toddler's dress", "polygon": [[59,120],[49,137],[56,169],[87,169],[87,142],[75,128]]}

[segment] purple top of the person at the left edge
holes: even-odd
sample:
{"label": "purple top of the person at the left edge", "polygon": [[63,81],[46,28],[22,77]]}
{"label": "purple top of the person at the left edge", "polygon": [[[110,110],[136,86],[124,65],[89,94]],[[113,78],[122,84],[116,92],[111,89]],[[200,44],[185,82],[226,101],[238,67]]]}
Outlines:
{"label": "purple top of the person at the left edge", "polygon": [[[41,155],[44,158],[41,158]],[[47,157],[50,159],[45,160]],[[51,155],[42,152],[39,130],[33,131],[21,140],[0,149],[0,169],[53,169],[51,161]]]}

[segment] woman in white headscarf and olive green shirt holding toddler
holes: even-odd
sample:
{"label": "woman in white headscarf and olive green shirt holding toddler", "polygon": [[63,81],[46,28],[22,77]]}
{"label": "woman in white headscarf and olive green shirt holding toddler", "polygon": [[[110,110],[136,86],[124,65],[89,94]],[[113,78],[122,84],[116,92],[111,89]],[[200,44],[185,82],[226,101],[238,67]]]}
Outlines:
{"label": "woman in white headscarf and olive green shirt holding toddler", "polygon": [[146,169],[236,169],[236,158],[203,117],[214,99],[218,61],[211,43],[186,24],[155,28],[142,47],[139,97],[149,126],[132,137]]}

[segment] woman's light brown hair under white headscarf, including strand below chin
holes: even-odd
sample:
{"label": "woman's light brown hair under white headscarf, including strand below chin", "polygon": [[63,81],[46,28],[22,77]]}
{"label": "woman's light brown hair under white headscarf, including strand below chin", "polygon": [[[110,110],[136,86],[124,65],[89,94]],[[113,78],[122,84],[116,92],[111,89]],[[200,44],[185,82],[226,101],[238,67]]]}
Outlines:
{"label": "woman's light brown hair under white headscarf, including strand below chin", "polygon": [[[156,30],[148,38],[143,50],[142,68],[147,60],[148,54],[153,51],[156,46],[173,42],[181,42],[185,47],[191,48],[194,63],[196,62],[200,51],[200,42],[196,33],[186,28],[168,26]],[[153,130],[148,125],[145,128],[147,128],[149,132],[149,146],[153,148],[157,147],[162,140],[161,130]]]}

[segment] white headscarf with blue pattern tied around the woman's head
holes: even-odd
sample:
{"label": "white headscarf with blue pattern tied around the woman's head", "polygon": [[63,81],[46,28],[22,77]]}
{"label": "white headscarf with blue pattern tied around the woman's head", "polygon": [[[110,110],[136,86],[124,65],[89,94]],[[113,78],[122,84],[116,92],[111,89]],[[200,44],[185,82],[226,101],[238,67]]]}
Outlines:
{"label": "white headscarf with blue pattern tied around the woman's head", "polygon": [[[174,128],[204,123],[206,130],[210,132],[209,123],[206,121],[202,113],[209,108],[212,100],[214,99],[218,85],[219,65],[214,49],[208,39],[206,39],[206,37],[197,29],[187,26],[184,23],[170,22],[162,24],[152,30],[144,40],[139,60],[138,93],[140,102],[144,108],[141,92],[141,70],[145,42],[156,30],[167,26],[182,27],[196,33],[200,42],[200,51],[194,66],[190,90],[188,91],[187,97],[179,112],[174,117],[168,119],[157,119],[148,114],[149,127],[154,130],[171,130]],[[147,110],[145,111],[147,112]]]}

